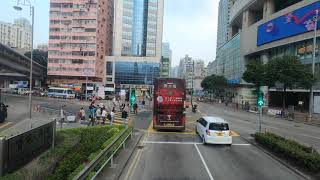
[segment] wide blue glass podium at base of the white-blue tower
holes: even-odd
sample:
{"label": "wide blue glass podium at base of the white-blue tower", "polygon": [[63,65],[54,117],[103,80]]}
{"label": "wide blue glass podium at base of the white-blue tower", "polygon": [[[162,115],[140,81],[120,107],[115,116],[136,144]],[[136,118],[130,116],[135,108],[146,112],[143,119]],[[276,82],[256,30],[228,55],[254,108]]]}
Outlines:
{"label": "wide blue glass podium at base of the white-blue tower", "polygon": [[159,73],[159,63],[124,61],[115,63],[116,84],[153,85]]}

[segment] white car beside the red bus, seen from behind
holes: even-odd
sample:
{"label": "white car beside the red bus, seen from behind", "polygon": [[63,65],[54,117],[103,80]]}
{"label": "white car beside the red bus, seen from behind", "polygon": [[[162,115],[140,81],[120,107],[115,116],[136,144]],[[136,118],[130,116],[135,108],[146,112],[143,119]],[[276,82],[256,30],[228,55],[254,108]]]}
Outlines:
{"label": "white car beside the red bus, seen from behind", "polygon": [[229,124],[219,117],[202,117],[197,120],[196,132],[203,144],[232,144]]}

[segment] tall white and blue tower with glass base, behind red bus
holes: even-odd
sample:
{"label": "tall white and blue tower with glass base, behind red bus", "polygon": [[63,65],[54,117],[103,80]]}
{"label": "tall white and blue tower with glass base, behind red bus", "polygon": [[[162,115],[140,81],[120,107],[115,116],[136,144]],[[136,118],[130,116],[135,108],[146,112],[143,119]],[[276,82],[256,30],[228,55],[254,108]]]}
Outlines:
{"label": "tall white and blue tower with glass base, behind red bus", "polygon": [[106,57],[106,84],[153,85],[160,71],[163,1],[115,1],[113,53]]}

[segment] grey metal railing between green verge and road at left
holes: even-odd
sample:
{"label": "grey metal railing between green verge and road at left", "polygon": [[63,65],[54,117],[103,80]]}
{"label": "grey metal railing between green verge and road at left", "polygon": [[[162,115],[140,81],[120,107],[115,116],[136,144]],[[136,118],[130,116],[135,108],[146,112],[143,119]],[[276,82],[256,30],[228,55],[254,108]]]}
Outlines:
{"label": "grey metal railing between green verge and road at left", "polygon": [[[92,160],[88,165],[86,165],[84,167],[84,169],[77,175],[75,176],[73,179],[74,180],[83,180],[86,179],[86,177],[89,175],[89,173],[94,170],[94,168],[96,168],[96,166],[108,155],[108,153],[110,153],[110,151],[113,148],[113,145],[115,145],[119,139],[121,139],[125,133],[129,130],[130,128],[126,127],[126,129],[117,137],[115,138],[112,143],[110,143],[105,149],[103,149],[98,155],[97,157]],[[113,158],[116,155],[116,153],[118,152],[118,150],[123,147],[125,148],[125,142],[126,140],[132,137],[132,130],[130,130],[129,134],[125,137],[125,139],[121,142],[121,144],[116,148],[116,150],[109,156],[109,158],[102,164],[102,166],[99,168],[99,170],[94,174],[94,176],[92,178],[90,178],[91,180],[95,179],[100,173],[101,171],[105,168],[105,166],[110,163],[111,165],[113,164]]]}

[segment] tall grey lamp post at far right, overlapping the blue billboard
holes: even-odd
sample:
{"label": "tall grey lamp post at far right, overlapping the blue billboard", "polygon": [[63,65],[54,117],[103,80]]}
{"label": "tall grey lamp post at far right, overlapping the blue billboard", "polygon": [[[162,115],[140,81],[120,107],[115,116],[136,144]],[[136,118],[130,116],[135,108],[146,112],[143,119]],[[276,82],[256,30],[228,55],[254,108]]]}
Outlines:
{"label": "tall grey lamp post at far right, overlapping the blue billboard", "polygon": [[[316,59],[316,46],[317,46],[317,27],[318,27],[318,17],[319,10],[316,10],[316,15],[313,17],[314,21],[314,36],[313,36],[313,55],[312,55],[312,75],[315,75],[315,59]],[[318,54],[319,55],[319,54]],[[312,119],[313,115],[313,85],[310,88],[310,101],[309,101],[309,116],[308,120]]]}

